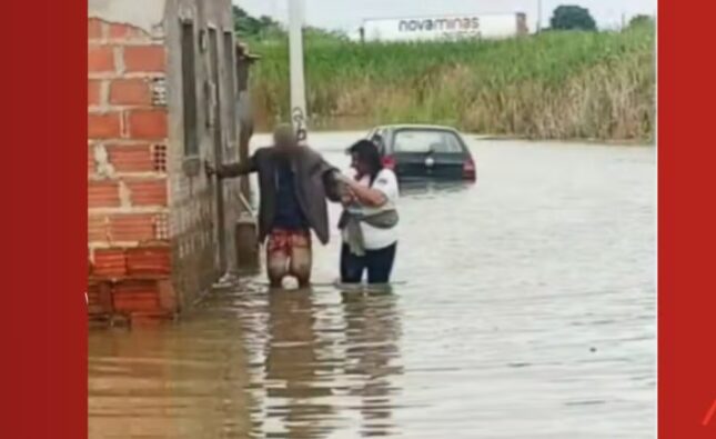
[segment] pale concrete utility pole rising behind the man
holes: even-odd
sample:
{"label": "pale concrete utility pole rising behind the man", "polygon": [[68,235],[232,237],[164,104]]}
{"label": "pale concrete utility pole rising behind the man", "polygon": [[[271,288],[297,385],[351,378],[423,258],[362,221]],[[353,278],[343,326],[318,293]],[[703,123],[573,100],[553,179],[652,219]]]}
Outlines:
{"label": "pale concrete utility pole rising behind the man", "polygon": [[291,120],[299,139],[307,136],[305,80],[303,77],[303,9],[304,0],[289,2],[289,51],[291,64]]}

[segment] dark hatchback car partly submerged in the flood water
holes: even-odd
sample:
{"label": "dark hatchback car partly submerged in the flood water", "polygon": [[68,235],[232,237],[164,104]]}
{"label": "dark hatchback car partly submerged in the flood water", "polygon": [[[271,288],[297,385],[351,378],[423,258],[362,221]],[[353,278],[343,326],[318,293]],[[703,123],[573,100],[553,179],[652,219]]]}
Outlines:
{"label": "dark hatchback car partly submerged in the flood water", "polygon": [[475,161],[454,128],[391,124],[374,128],[367,138],[401,180],[476,180]]}

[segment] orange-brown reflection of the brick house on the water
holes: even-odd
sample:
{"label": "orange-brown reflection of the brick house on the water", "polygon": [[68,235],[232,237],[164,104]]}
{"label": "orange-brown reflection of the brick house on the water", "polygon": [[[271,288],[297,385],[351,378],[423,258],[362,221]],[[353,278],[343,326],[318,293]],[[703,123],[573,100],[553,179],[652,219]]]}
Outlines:
{"label": "orange-brown reflection of the brick house on the water", "polygon": [[89,339],[91,438],[245,438],[245,353],[229,321],[98,331]]}

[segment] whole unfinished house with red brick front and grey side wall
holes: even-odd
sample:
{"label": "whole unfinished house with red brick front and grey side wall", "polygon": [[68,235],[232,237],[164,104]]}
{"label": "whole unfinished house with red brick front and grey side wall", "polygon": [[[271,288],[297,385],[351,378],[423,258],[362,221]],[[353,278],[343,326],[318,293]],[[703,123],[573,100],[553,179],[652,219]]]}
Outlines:
{"label": "whole unfinished house with red brick front and grey side wall", "polygon": [[90,315],[173,316],[235,267],[231,0],[89,0]]}

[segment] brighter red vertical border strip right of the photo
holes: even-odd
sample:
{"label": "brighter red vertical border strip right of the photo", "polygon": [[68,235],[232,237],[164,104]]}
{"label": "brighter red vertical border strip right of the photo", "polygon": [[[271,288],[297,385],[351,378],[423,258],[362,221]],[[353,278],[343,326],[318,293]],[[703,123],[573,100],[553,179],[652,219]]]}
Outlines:
{"label": "brighter red vertical border strip right of the photo", "polygon": [[[658,427],[716,438],[713,1],[659,1]],[[710,62],[709,62],[710,61]]]}

